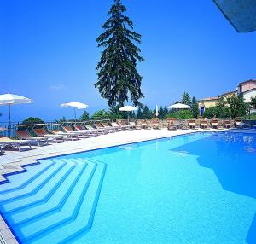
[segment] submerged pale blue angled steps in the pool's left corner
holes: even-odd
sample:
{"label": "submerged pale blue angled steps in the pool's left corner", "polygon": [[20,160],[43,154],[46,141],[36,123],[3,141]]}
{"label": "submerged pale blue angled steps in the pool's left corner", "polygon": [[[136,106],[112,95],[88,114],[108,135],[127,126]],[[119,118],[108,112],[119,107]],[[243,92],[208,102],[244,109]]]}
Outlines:
{"label": "submerged pale blue angled steps in the pool's left corner", "polygon": [[44,160],[40,171],[0,190],[0,210],[21,243],[68,243],[90,231],[106,164]]}

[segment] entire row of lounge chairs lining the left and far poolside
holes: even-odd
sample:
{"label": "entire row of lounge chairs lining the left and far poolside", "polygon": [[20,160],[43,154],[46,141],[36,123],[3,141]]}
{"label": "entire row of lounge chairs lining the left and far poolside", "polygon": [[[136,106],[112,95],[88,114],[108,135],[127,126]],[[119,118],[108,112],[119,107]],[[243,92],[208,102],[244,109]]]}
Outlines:
{"label": "entire row of lounge chairs lining the left and far poolside", "polygon": [[[79,140],[80,138],[96,137],[117,131],[124,130],[140,130],[140,129],[161,129],[169,130],[177,129],[223,129],[223,128],[240,128],[241,119],[173,119],[168,118],[166,121],[154,119],[138,119],[131,120],[129,124],[126,119],[116,121],[96,121],[90,123],[71,123],[71,124],[55,124],[48,128],[48,125],[19,125],[16,130],[17,140],[9,137],[0,137],[0,154],[3,154],[4,148],[17,148],[21,146],[32,148],[32,144],[43,146],[49,142],[65,142],[67,140]],[[53,128],[54,127],[54,128]]]}

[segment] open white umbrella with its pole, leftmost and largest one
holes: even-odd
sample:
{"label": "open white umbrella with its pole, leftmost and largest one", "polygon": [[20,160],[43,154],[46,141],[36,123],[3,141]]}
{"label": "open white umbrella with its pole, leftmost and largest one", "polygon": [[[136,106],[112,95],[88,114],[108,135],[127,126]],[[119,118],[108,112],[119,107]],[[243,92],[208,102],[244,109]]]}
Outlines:
{"label": "open white umbrella with its pole, leftmost and largest one", "polygon": [[11,113],[10,113],[11,105],[32,103],[32,102],[33,102],[32,99],[27,98],[25,96],[19,96],[19,95],[9,94],[9,93],[0,95],[0,105],[7,105],[9,107],[9,129],[10,129],[10,121],[11,121]]}

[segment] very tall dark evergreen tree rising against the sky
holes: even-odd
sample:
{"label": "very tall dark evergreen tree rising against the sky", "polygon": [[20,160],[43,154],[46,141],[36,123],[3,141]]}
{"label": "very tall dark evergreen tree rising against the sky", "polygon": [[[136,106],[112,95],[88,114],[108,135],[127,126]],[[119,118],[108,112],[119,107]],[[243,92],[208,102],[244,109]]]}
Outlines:
{"label": "very tall dark evergreen tree rising against the sky", "polygon": [[105,48],[102,52],[96,71],[98,80],[95,86],[102,98],[108,100],[108,106],[123,107],[131,96],[134,106],[142,106],[142,77],[137,73],[137,61],[143,61],[140,49],[141,35],[133,31],[133,23],[123,15],[125,6],[120,0],[108,12],[108,20],[102,26],[105,30],[97,39],[98,47]]}

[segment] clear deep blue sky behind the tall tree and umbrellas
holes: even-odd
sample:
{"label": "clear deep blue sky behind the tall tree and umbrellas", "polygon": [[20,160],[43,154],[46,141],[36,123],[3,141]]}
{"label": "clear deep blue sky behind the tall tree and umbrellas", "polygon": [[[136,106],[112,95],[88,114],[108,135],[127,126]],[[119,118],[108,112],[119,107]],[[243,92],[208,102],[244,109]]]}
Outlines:
{"label": "clear deep blue sky behind the tall tree and umbrellas", "polygon": [[[1,0],[0,93],[34,99],[12,109],[12,120],[72,117],[61,102],[108,108],[94,88],[110,0]],[[143,100],[170,105],[183,91],[203,98],[256,78],[256,32],[237,33],[212,0],[123,0],[142,34]],[[7,108],[0,107],[7,120]],[[79,111],[79,114],[82,111]]]}

